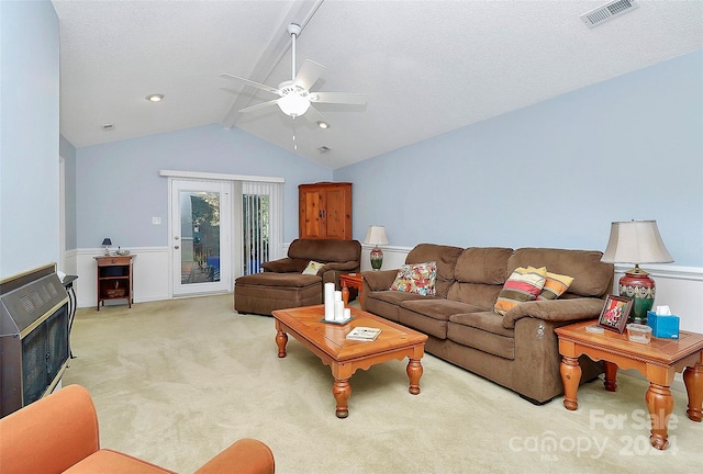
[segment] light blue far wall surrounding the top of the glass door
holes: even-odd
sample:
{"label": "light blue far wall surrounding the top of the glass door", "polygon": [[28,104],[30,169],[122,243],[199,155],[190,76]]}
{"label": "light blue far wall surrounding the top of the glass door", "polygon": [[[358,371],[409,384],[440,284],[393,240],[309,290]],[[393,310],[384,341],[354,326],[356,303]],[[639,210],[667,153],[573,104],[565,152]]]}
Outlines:
{"label": "light blue far wall surrounding the top of the glass door", "polygon": [[[298,237],[298,184],[332,179],[327,168],[220,124],[78,148],[78,248],[100,247],[104,237],[122,247],[168,245],[163,169],[284,178],[286,241]],[[152,217],[164,224],[153,225]]]}

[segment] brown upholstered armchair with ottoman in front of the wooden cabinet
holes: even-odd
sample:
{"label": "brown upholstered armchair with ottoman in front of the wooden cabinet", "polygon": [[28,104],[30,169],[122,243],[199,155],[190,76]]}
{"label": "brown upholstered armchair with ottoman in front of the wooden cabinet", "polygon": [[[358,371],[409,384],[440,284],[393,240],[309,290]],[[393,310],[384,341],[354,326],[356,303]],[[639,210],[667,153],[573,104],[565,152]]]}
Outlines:
{"label": "brown upholstered armchair with ottoman in front of the wooden cabinet", "polygon": [[[310,261],[324,263],[317,274],[302,274]],[[339,290],[339,274],[358,272],[358,240],[295,239],[288,257],[264,263],[263,273],[239,276],[234,283],[234,309],[270,315],[276,309],[322,304],[324,283]]]}

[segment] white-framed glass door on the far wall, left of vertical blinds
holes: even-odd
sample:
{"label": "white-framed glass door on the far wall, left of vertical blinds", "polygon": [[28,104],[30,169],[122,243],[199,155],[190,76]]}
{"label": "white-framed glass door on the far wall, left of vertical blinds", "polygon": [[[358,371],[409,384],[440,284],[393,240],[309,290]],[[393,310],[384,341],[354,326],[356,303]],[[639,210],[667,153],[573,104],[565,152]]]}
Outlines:
{"label": "white-framed glass door on the far wall, left of vertical blinds", "polygon": [[174,296],[230,291],[231,183],[171,181]]}

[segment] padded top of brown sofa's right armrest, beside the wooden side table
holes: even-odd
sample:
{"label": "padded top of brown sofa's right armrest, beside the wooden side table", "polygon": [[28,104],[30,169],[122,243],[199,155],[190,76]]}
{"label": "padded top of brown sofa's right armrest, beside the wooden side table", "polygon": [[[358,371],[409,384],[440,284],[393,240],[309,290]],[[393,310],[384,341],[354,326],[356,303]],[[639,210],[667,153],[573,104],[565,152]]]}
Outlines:
{"label": "padded top of brown sofa's right armrest, beside the wooden side table", "polygon": [[533,317],[548,321],[577,321],[593,319],[601,315],[603,300],[573,298],[556,301],[533,301],[513,306],[503,316],[503,327],[511,329],[515,321],[524,317]]}

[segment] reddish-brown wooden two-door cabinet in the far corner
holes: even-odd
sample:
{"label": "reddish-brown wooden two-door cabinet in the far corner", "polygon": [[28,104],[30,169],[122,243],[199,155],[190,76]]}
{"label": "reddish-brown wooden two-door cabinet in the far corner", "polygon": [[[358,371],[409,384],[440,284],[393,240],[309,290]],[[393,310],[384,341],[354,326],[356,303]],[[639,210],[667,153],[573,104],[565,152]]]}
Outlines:
{"label": "reddish-brown wooden two-door cabinet in the far corner", "polygon": [[352,239],[352,183],[300,184],[300,238]]}

